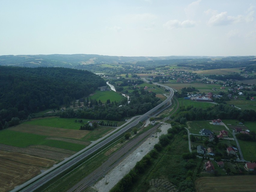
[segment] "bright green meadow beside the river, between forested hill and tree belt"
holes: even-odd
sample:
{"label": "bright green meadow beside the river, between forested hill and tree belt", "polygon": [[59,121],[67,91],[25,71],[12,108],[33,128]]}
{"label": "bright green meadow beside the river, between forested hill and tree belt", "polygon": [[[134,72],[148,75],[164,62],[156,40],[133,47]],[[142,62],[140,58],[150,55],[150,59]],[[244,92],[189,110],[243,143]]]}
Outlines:
{"label": "bright green meadow beside the river, between forested hill and tree belt", "polygon": [[89,96],[90,99],[95,99],[96,101],[101,101],[102,103],[107,102],[107,99],[110,101],[121,101],[124,98],[120,93],[114,91],[96,91],[92,96]]}

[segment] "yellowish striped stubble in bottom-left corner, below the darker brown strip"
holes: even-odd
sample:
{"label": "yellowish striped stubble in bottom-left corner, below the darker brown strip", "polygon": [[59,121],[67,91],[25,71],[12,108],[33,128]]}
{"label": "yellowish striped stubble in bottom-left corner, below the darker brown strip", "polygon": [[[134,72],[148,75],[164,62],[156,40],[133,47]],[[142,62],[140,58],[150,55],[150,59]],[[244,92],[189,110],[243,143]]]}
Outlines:
{"label": "yellowish striped stubble in bottom-left corner, below the darker brown strip", "polygon": [[1,157],[0,170],[0,192],[10,191],[15,186],[20,185],[41,173],[39,167],[6,160]]}

